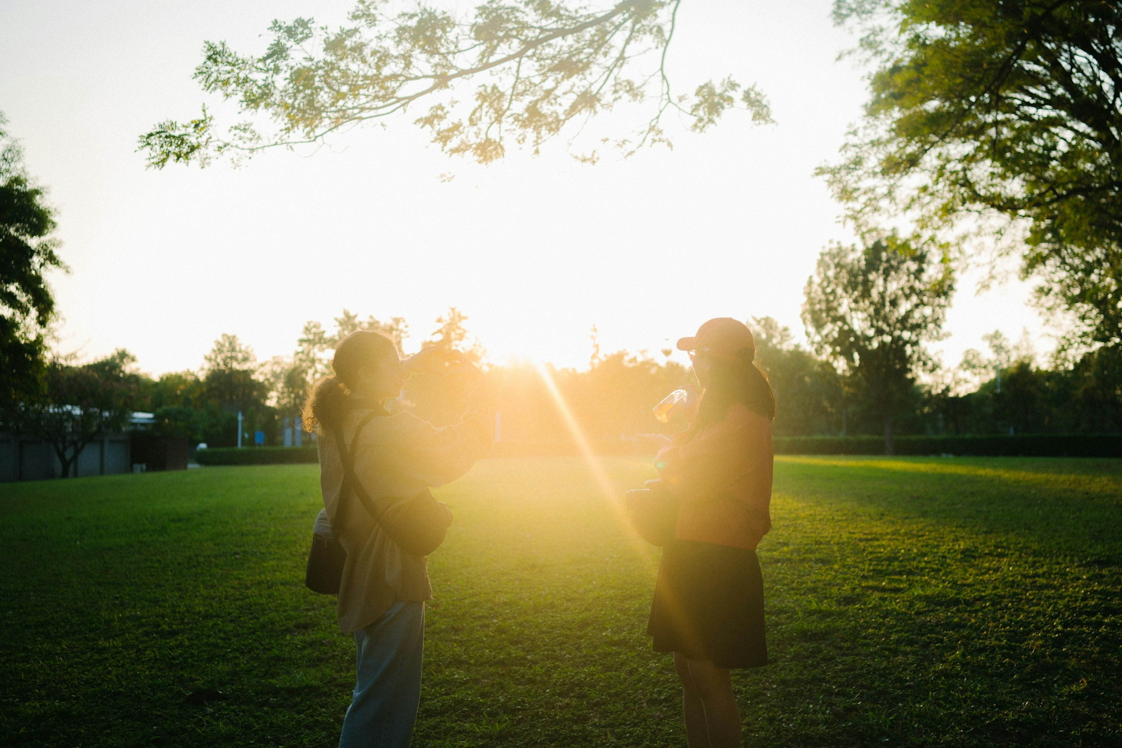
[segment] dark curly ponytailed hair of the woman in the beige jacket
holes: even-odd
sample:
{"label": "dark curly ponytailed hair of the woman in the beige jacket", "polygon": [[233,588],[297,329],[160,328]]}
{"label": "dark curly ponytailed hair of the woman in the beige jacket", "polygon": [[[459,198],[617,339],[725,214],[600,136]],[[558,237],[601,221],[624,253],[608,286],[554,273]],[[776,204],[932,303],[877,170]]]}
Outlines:
{"label": "dark curly ponytailed hair of the woman in the beige jacket", "polygon": [[386,335],[359,330],[339,341],[331,359],[333,375],[321,377],[304,401],[304,428],[323,433],[342,422],[355,407],[351,388],[362,369],[377,368],[390,357],[397,359],[397,348]]}

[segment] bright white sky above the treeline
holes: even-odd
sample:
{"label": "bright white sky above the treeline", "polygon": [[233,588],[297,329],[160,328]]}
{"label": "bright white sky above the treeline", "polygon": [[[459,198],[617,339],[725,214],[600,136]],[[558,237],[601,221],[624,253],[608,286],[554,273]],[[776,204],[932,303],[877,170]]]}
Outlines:
{"label": "bright white sky above the treeline", "polygon": [[[127,348],[142,369],[197,368],[219,334],[259,359],[288,354],[302,324],[343,307],[404,316],[416,348],[461,307],[491,360],[581,366],[647,349],[712,316],[771,315],[801,334],[802,287],[820,249],[848,239],[815,166],[837,158],[865,100],[836,62],[852,39],[829,0],[688,0],[670,66],[680,91],[733,74],[770,96],[774,127],[743,112],[706,135],[668,121],[675,148],[596,166],[508,150],[452,159],[411,124],[362,128],[312,157],[276,151],[233,169],[146,169],[137,137],[205,101],[191,74],[203,40],[264,46],[274,18],[337,24],[349,0],[4,0],[0,111],[59,209],[53,277],[64,350]],[[229,120],[228,120],[229,121]],[[611,116],[597,133],[626,135]],[[454,174],[451,182],[440,175]],[[1028,327],[1028,286],[977,296],[967,277],[938,348],[957,363],[1001,329]]]}

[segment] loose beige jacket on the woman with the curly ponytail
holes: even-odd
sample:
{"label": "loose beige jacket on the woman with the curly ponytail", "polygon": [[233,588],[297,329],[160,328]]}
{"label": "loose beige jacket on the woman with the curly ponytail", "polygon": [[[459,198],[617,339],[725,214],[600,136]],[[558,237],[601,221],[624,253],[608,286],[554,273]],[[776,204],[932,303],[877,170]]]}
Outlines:
{"label": "loose beige jacket on the woman with the curly ponytail", "polygon": [[[347,415],[343,438],[348,446],[355,428],[370,410],[357,408]],[[371,419],[358,435],[355,474],[370,499],[394,519],[405,501],[429,487],[442,486],[468,472],[490,450],[490,406],[485,390],[472,393],[460,423],[436,428],[411,413]],[[339,509],[343,467],[333,434],[319,437],[320,488],[327,518]],[[347,551],[339,585],[339,629],[344,634],[365,628],[397,600],[430,600],[432,587],[425,556],[402,551],[353,492],[344,526],[332,529]]]}

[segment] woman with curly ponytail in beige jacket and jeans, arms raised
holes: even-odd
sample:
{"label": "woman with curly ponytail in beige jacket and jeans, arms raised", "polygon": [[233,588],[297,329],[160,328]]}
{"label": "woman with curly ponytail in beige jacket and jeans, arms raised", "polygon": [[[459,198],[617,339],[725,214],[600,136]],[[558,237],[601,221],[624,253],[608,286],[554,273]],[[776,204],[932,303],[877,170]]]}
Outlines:
{"label": "woman with curly ponytail in beige jacket and jeans, arms raised", "polygon": [[[356,478],[393,526],[403,497],[456,480],[490,449],[486,380],[458,351],[427,348],[402,361],[393,341],[370,331],[344,338],[331,368],[334,376],[315,384],[304,418],[319,433],[324,509],[316,534],[333,534],[347,552],[339,628],[358,645],[355,693],[339,745],[405,748],[421,699],[424,601],[432,599],[426,560],[403,551],[362,506],[352,506],[355,491],[341,496],[344,469],[335,433],[353,455]],[[461,378],[470,389],[460,423],[436,428],[383,407],[401,395],[406,376],[425,370]],[[341,500],[349,504],[337,527]],[[444,510],[451,524],[451,511]]]}

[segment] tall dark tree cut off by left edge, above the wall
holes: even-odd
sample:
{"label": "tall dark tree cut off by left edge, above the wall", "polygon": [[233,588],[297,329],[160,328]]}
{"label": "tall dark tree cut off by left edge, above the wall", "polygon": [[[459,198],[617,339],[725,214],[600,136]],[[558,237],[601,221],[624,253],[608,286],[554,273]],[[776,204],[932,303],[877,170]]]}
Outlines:
{"label": "tall dark tree cut off by left edge, above the wall", "polygon": [[65,269],[49,239],[54,213],[24,168],[19,144],[0,113],[0,410],[43,394],[46,333],[55,298],[45,275]]}

